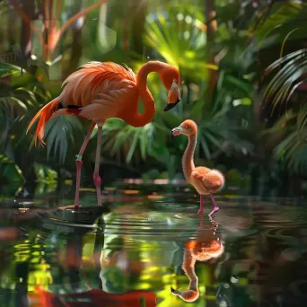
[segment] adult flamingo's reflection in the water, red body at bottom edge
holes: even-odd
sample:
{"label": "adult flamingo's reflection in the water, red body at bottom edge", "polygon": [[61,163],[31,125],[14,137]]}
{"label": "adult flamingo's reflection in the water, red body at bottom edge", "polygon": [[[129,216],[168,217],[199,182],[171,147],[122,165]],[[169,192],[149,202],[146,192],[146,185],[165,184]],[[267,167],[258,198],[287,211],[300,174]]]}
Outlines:
{"label": "adult flamingo's reflection in the water, red body at bottom edge", "polygon": [[[45,223],[47,218],[41,215]],[[51,222],[53,223],[53,222]],[[72,224],[73,225],[73,224]],[[103,290],[102,279],[100,277],[101,272],[101,250],[104,248],[104,226],[105,222],[103,217],[98,218],[97,226],[99,231],[95,234],[93,260],[95,263],[96,278],[98,279],[98,289],[92,289],[89,278],[86,276],[82,265],[82,250],[83,243],[82,237],[88,232],[88,228],[78,230],[76,225],[73,230],[75,233],[75,241],[71,244],[67,244],[66,248],[66,266],[70,268],[70,272],[74,271],[74,278],[70,278],[71,282],[78,285],[78,280],[83,280],[88,288],[88,291],[75,292],[72,294],[52,294],[44,290],[41,286],[35,287],[34,294],[28,295],[30,298],[31,307],[156,307],[157,296],[156,294],[144,291],[133,290],[123,294],[111,294]],[[60,226],[57,226],[60,227]],[[79,227],[82,228],[82,227]],[[78,271],[81,273],[79,276]],[[72,287],[74,288],[75,286]],[[75,291],[76,291],[75,287]],[[80,290],[80,287],[78,287]]]}

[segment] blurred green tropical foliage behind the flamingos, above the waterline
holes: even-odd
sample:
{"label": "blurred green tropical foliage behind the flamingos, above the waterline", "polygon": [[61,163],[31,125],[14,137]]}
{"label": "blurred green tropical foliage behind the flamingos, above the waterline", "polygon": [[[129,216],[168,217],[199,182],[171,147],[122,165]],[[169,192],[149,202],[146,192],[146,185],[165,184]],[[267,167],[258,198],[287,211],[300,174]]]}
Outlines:
{"label": "blurred green tropical foliage behind the flamingos, above the waterline", "polygon": [[[270,186],[276,194],[291,195],[304,187],[306,4],[29,0],[22,5],[12,0],[0,8],[5,21],[1,52],[14,55],[8,60],[3,56],[0,64],[4,184],[21,187],[25,181],[39,181],[59,187],[74,177],[75,153],[88,123],[74,117],[51,120],[46,148],[34,148],[33,131],[26,135],[25,129],[78,66],[114,61],[136,72],[147,60],[158,59],[180,69],[182,103],[163,112],[165,89],[157,75],[150,75],[148,87],[158,110],[153,122],[142,128],[117,118],[106,122],[101,177],[182,176],[186,140],[169,142],[168,136],[182,118],[191,118],[199,127],[197,162],[218,165],[231,186],[242,188],[242,178],[250,178],[242,193],[266,195]],[[90,141],[83,158],[89,173],[94,153],[95,142]],[[117,178],[109,176],[115,167]],[[285,191],[287,182],[296,188]],[[17,191],[1,194],[12,197]]]}

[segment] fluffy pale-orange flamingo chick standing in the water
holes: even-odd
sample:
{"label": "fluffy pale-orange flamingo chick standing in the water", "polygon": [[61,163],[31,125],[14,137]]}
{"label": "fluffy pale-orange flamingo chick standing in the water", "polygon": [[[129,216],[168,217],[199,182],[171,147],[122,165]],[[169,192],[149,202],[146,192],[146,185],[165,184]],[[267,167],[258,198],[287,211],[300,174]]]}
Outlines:
{"label": "fluffy pale-orange flamingo chick standing in the water", "polygon": [[223,189],[224,175],[221,171],[210,170],[204,166],[195,167],[193,156],[195,146],[197,144],[197,124],[190,119],[185,120],[180,124],[180,127],[175,127],[171,130],[172,136],[185,135],[189,137],[189,144],[182,157],[182,168],[184,176],[200,195],[200,207],[197,215],[202,215],[204,210],[204,195],[210,195],[214,208],[209,216],[214,215],[219,210],[215,202],[214,193]]}

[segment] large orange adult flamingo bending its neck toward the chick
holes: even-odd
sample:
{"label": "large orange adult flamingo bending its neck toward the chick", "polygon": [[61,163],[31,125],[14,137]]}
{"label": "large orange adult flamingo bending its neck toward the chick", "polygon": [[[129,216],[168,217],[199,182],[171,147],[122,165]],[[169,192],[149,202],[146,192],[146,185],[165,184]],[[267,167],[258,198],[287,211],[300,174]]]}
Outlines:
{"label": "large orange adult flamingo bending its neck toward the chick", "polygon": [[[82,156],[92,135],[95,125],[98,126],[98,140],[93,180],[97,191],[98,205],[101,206],[101,178],[99,164],[101,157],[102,126],[108,118],[121,118],[133,127],[144,127],[152,121],[155,106],[153,95],[148,90],[147,75],[156,72],[168,92],[168,102],[164,111],[171,110],[180,101],[180,75],[174,66],[160,61],[149,61],[143,65],[137,74],[127,66],[113,62],[89,62],[69,75],[64,83],[63,91],[53,101],[48,102],[32,118],[27,133],[35,120],[39,118],[36,129],[37,139],[42,145],[46,124],[50,118],[60,115],[76,115],[79,118],[92,121],[92,125],[84,139],[76,160],[75,209],[79,207],[79,189],[82,168]],[[145,106],[143,114],[138,112],[138,101],[142,99]]]}

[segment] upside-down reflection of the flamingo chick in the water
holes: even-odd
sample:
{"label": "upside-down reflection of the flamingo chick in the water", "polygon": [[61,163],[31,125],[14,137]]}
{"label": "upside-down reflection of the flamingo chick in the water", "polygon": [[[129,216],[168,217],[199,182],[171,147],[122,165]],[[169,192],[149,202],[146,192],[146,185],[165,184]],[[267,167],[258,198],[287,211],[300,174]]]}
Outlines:
{"label": "upside-down reflection of the flamingo chick in the water", "polygon": [[211,220],[210,225],[204,226],[204,220],[201,217],[200,227],[197,230],[197,240],[185,243],[181,268],[189,277],[189,288],[180,291],[171,287],[171,293],[179,296],[185,302],[195,302],[199,297],[198,277],[195,273],[196,262],[216,259],[224,252],[223,242],[216,234],[217,227],[218,224],[214,220]]}

